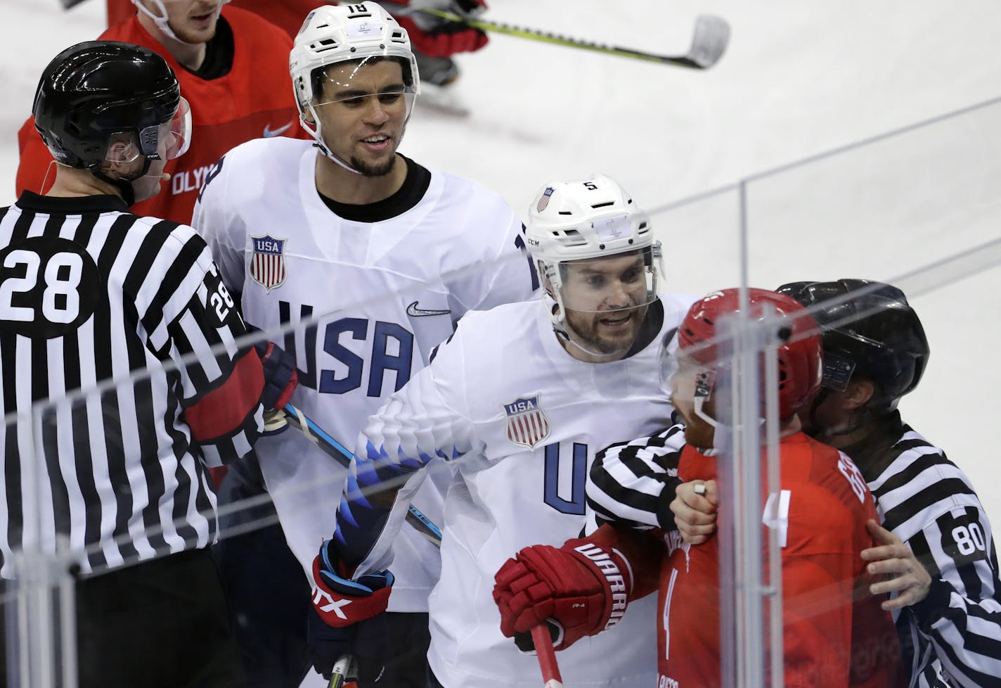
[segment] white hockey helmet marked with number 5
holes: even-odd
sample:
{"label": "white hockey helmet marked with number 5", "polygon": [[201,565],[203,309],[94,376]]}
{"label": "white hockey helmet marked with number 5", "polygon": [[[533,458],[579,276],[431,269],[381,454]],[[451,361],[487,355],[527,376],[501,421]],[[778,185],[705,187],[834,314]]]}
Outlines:
{"label": "white hockey helmet marked with number 5", "polygon": [[568,308],[596,310],[589,305],[594,299],[581,298],[566,288],[568,263],[639,253],[643,257],[644,288],[635,290],[624,307],[645,305],[657,298],[650,218],[609,176],[598,174],[544,186],[529,207],[526,239],[547,294],[555,301],[551,311],[558,331],[563,330]]}

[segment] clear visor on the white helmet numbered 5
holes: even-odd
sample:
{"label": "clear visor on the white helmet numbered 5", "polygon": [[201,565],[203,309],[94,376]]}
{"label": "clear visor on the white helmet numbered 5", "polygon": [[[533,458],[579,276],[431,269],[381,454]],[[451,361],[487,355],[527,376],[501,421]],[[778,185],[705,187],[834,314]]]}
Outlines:
{"label": "clear visor on the white helmet numbered 5", "polygon": [[629,310],[657,298],[657,268],[648,246],[608,257],[559,262],[563,305],[578,312]]}

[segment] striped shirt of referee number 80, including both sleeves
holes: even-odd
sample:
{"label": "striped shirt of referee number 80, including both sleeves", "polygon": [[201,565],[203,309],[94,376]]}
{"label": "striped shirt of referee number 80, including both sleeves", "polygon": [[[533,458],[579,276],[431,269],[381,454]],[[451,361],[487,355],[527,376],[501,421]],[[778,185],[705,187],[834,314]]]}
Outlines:
{"label": "striped shirt of referee number 80, including both sleeves", "polygon": [[[591,469],[588,504],[605,520],[671,528],[680,426],[609,447]],[[896,412],[845,448],[883,525],[932,573],[928,597],[895,619],[911,688],[1001,686],[1001,584],[990,522],[969,480]],[[674,481],[674,482],[673,482]]]}

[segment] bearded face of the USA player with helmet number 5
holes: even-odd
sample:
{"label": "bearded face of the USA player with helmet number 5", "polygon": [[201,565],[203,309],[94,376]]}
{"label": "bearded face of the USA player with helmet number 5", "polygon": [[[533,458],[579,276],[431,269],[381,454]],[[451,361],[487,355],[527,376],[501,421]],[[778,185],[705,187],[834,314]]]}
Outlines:
{"label": "bearded face of the USA player with helmet number 5", "polygon": [[565,269],[562,288],[571,336],[596,354],[628,352],[650,300],[643,256],[578,260]]}

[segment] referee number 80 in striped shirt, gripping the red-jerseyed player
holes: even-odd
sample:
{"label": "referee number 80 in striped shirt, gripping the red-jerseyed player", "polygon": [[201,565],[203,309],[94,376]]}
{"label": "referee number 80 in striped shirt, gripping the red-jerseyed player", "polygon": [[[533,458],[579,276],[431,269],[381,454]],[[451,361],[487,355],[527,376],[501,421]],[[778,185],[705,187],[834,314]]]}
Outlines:
{"label": "referee number 80 in striped shirt, gripping the red-jerseyed player", "polygon": [[[896,410],[928,360],[917,314],[903,292],[880,282],[778,290],[809,306],[824,329],[824,387],[800,418],[809,434],[851,457],[876,500],[883,528],[871,530],[883,546],[864,556],[896,576],[875,592],[898,592],[885,604],[897,615],[910,687],[1001,686],[1001,583],[987,515],[963,472]],[[677,478],[682,430],[599,454],[587,493],[600,517],[678,528],[693,544],[713,532],[715,486],[697,496]]]}

